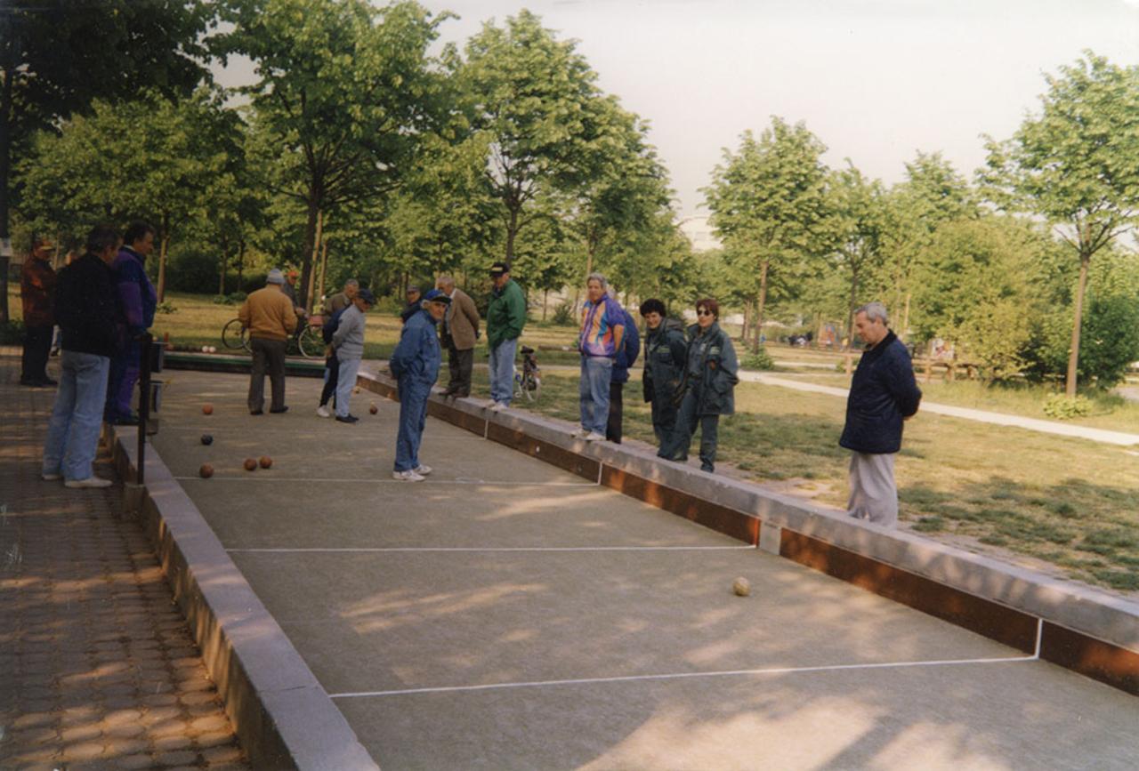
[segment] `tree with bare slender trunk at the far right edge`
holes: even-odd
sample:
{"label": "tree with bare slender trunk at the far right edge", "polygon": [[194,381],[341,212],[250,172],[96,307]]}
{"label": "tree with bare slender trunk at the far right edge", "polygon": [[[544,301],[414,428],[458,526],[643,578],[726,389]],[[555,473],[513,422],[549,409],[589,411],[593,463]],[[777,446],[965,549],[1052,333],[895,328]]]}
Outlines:
{"label": "tree with bare slender trunk at the far right edge", "polygon": [[989,139],[981,179],[999,206],[1047,218],[1080,260],[1065,380],[1074,396],[1091,257],[1139,213],[1139,67],[1087,51],[1046,80],[1040,114],[1003,143]]}

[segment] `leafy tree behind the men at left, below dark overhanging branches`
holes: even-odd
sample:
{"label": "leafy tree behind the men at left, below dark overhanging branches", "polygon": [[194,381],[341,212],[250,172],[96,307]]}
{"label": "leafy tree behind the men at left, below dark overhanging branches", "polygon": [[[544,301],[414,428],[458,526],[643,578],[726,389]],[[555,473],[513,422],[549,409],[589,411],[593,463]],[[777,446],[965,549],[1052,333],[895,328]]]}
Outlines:
{"label": "leafy tree behind the men at left, below dark overhanging branches", "polygon": [[[239,142],[237,115],[216,91],[199,89],[177,102],[157,92],[120,105],[97,100],[90,116],[40,134],[22,166],[26,205],[71,229],[99,219],[153,222],[161,302],[171,238],[235,195]],[[221,202],[212,199],[215,192]]]}

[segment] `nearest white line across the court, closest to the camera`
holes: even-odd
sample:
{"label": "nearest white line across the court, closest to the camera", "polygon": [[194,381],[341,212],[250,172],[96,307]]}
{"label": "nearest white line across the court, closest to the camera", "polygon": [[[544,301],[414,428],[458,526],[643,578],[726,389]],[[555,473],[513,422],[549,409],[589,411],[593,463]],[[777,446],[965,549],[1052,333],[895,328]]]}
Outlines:
{"label": "nearest white line across the court, closest to the camera", "polygon": [[685,680],[690,678],[732,678],[763,674],[798,674],[804,672],[839,672],[846,670],[891,670],[917,666],[961,666],[966,664],[1011,664],[1039,661],[1036,656],[1009,656],[1005,658],[951,658],[932,662],[891,662],[884,664],[829,664],[822,666],[781,666],[763,670],[724,670],[720,672],[677,672],[672,674],[632,674],[620,678],[580,678],[576,680],[534,680],[530,682],[499,682],[486,686],[440,686],[435,688],[403,688],[399,690],[350,691],[329,694],[334,699],[361,698],[366,696],[407,696],[411,694],[448,694],[476,690],[499,690],[506,688],[541,688],[549,686],[590,686],[608,682],[637,682],[642,680]]}

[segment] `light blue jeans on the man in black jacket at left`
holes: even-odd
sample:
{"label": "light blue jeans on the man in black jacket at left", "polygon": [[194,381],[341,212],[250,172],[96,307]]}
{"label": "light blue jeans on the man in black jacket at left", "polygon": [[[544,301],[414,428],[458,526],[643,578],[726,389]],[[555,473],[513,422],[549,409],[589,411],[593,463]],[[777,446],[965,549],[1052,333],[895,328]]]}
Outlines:
{"label": "light blue jeans on the man in black jacket at left", "polygon": [[43,473],[65,479],[90,478],[103,426],[110,359],[64,351],[59,355],[59,389],[43,444]]}

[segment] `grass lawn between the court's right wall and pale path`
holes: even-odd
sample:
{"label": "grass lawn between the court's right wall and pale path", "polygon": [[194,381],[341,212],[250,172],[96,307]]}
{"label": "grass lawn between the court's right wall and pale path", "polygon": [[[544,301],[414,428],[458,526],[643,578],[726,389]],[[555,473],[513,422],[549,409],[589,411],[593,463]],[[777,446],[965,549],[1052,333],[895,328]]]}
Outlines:
{"label": "grass lawn between the court's right wall and pale path", "polygon": [[[625,435],[653,442],[640,393],[639,380],[625,386]],[[548,370],[539,402],[516,405],[575,423],[577,376]],[[843,400],[743,383],[736,409],[721,419],[720,461],[764,486],[845,505]],[[919,413],[896,474],[903,527],[1139,591],[1139,458],[1118,446]]]}

